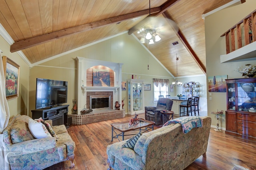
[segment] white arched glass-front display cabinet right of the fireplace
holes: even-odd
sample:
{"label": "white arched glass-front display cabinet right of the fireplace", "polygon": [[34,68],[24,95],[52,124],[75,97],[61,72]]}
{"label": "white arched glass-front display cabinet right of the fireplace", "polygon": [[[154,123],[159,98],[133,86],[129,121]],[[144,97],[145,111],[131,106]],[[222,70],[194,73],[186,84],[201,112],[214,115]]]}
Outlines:
{"label": "white arched glass-front display cabinet right of the fireplace", "polygon": [[128,114],[144,113],[144,81],[131,79],[128,86]]}

